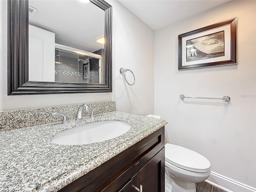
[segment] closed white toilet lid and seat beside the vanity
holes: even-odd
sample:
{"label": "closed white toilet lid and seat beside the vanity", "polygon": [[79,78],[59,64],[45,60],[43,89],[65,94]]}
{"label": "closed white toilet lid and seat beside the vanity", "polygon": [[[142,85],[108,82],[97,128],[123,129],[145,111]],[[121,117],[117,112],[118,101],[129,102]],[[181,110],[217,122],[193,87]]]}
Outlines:
{"label": "closed white toilet lid and seat beside the vanity", "polygon": [[165,145],[165,160],[178,168],[193,172],[208,172],[211,166],[209,160],[201,154],[169,143]]}

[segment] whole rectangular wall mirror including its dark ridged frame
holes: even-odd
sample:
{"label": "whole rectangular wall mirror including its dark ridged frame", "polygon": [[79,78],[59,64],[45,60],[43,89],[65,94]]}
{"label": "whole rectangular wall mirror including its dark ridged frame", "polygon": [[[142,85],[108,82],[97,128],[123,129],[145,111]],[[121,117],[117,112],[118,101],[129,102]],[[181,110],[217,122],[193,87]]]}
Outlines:
{"label": "whole rectangular wall mirror including its dark ridged frame", "polygon": [[8,1],[8,95],[112,92],[112,6],[85,1]]}

